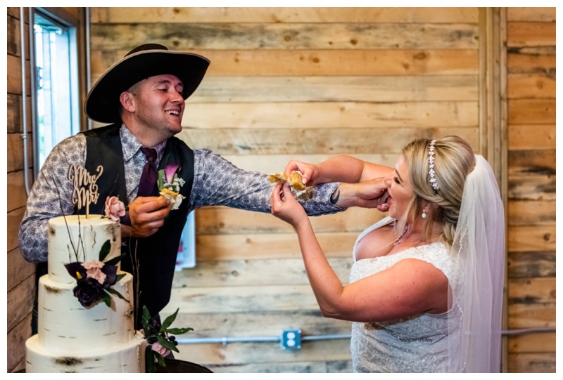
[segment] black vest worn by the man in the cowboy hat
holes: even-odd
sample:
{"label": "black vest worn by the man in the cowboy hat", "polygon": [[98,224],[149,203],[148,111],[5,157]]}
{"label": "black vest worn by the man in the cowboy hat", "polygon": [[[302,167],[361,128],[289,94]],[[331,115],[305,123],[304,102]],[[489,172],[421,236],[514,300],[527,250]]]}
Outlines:
{"label": "black vest worn by the man in the cowboy hat", "polygon": [[[103,166],[103,173],[96,182],[100,196],[96,204],[91,204],[91,214],[105,214],[106,197],[117,196],[126,206],[128,203],[120,126],[121,124],[113,124],[83,132],[87,143],[85,169],[89,173],[96,173],[96,168]],[[127,256],[121,261],[121,269],[132,273],[134,284],[139,286],[134,287],[134,293],[137,294],[138,289],[140,296],[135,306],[137,328],[141,327],[139,317],[142,315],[142,305],[146,305],[151,316],[155,316],[170,301],[179,240],[188,215],[188,199],[194,183],[194,152],[175,137],[167,140],[158,170],[171,164],[180,166],[177,174],[185,181],[180,194],[186,199],[179,209],[170,211],[164,225],[155,234],[142,238],[126,237],[122,240],[122,254]],[[153,195],[158,196],[156,185]]]}

